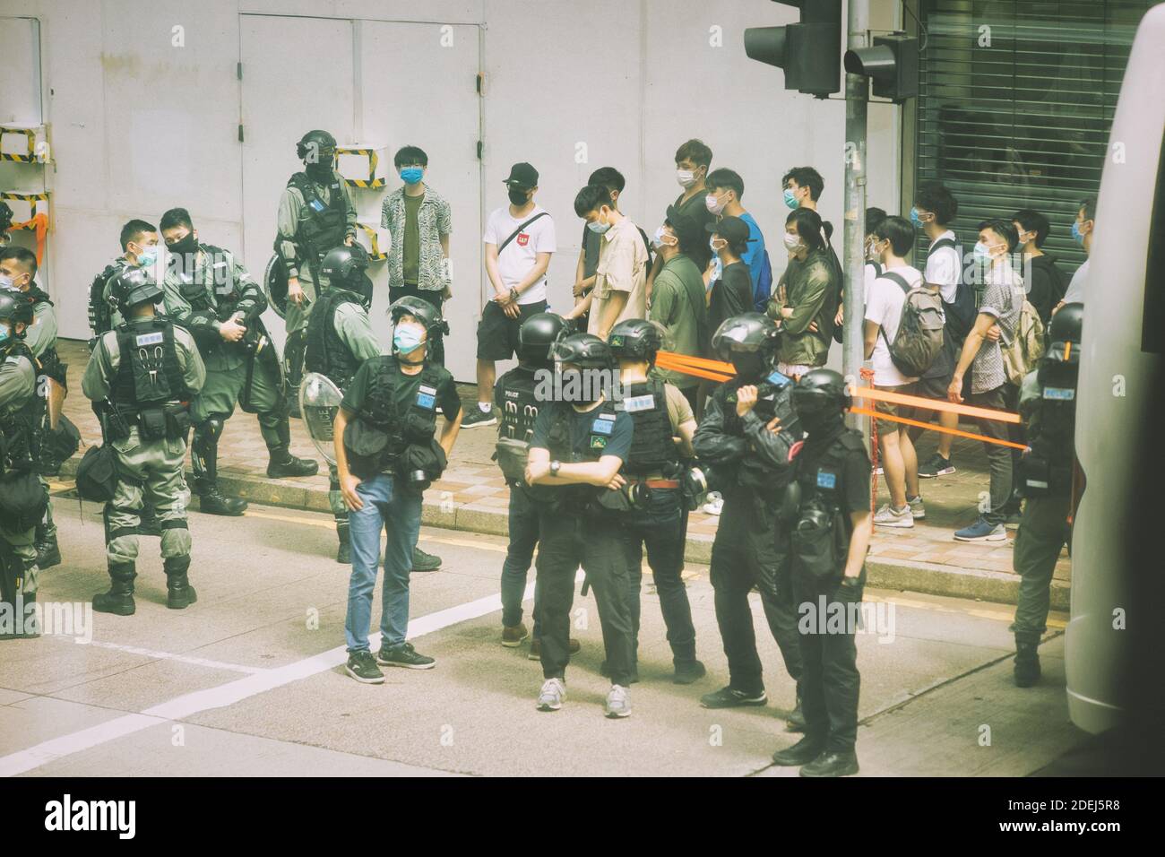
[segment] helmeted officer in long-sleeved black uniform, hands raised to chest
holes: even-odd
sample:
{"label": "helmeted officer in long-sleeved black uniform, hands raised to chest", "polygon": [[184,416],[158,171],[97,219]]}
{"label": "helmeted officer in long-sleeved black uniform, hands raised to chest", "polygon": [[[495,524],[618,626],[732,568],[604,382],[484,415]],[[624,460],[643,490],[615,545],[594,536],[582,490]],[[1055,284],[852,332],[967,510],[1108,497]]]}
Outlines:
{"label": "helmeted officer in long-sleeved black uniform, hands raised to chest", "polygon": [[[693,438],[696,454],[711,465],[712,487],[723,496],[709,576],[729,679],[727,687],[700,698],[705,708],[768,702],[748,602],[753,586],[760,590],[785,669],[798,686],[802,677],[789,563],[776,552],[778,533],[790,526],[788,492],[800,440],[792,380],[776,370],[778,338],[776,323],[760,312],[726,318],[712,337],[736,377],[708,396]],[[774,420],[779,431],[768,428]],[[800,723],[799,693],[797,701],[791,726]]]}

